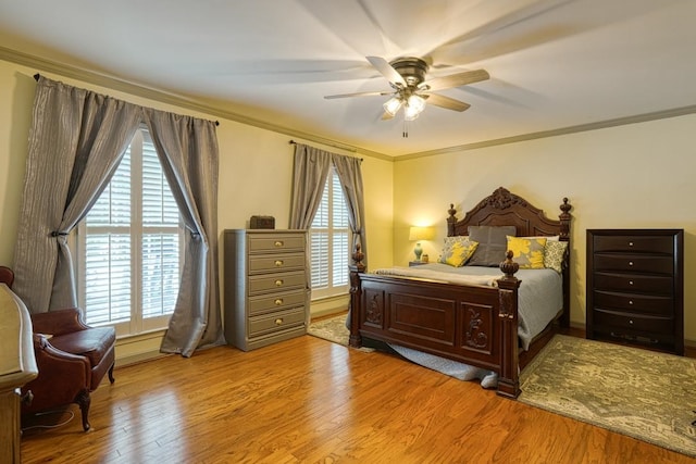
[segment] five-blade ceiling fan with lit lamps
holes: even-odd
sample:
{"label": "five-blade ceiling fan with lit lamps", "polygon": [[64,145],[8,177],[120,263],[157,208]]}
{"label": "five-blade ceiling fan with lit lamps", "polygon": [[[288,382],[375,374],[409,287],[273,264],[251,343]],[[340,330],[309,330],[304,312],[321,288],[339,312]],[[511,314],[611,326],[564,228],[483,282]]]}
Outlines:
{"label": "five-blade ceiling fan with lit lamps", "polygon": [[426,100],[431,104],[447,110],[464,111],[471,106],[469,103],[433,92],[490,78],[485,70],[476,70],[425,80],[425,73],[427,73],[428,65],[420,58],[397,58],[390,62],[380,57],[365,58],[387,78],[393,88],[391,91],[340,93],[325,96],[324,98],[391,96],[391,98],[384,103],[382,120],[393,118],[399,110],[403,108],[405,120],[413,121],[425,109]]}

